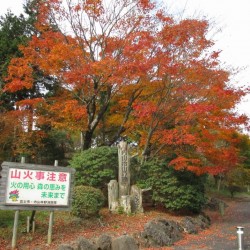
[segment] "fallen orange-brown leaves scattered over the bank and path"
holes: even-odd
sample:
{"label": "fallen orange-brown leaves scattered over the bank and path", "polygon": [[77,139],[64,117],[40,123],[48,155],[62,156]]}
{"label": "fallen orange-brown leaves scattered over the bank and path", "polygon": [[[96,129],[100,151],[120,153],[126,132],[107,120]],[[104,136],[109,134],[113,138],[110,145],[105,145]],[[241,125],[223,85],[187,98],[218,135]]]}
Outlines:
{"label": "fallen orange-brown leaves scattered over the bank and path", "polygon": [[[198,234],[184,234],[184,238],[175,243],[174,246],[157,248],[158,250],[174,250],[175,247],[185,247],[188,249],[215,249],[218,242],[228,242],[232,246],[237,241],[236,227],[234,220],[241,221],[244,218],[236,211],[239,203],[235,201],[226,202],[229,207],[224,216],[215,211],[206,211],[211,218],[212,225],[209,229],[200,231]],[[242,204],[242,203],[241,203]],[[240,205],[241,205],[240,204]],[[247,205],[247,203],[246,203]],[[237,217],[238,216],[238,217]],[[155,218],[165,218],[169,220],[180,221],[183,217],[167,213],[164,209],[152,209],[143,214],[112,214],[107,208],[102,209],[100,218],[92,220],[78,220],[68,217],[66,214],[55,214],[55,223],[53,227],[53,242],[51,245],[45,245],[47,242],[48,223],[40,221],[37,224],[37,231],[34,234],[22,234],[18,236],[18,249],[33,250],[55,250],[60,244],[70,243],[82,236],[85,238],[95,238],[103,233],[113,237],[123,234],[136,235],[143,231],[144,225]],[[212,247],[212,248],[211,248]],[[0,238],[0,250],[11,249],[10,241]],[[153,250],[154,248],[147,248]]]}

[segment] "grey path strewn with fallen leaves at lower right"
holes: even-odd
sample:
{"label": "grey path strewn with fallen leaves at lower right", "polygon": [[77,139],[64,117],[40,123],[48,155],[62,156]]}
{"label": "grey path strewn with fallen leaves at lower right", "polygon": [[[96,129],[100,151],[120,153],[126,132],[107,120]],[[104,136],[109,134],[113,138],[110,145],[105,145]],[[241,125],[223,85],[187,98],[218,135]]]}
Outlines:
{"label": "grey path strewn with fallen leaves at lower right", "polygon": [[173,250],[238,250],[237,226],[244,227],[244,250],[250,250],[250,197],[225,200],[224,216],[211,214],[212,225],[177,242]]}

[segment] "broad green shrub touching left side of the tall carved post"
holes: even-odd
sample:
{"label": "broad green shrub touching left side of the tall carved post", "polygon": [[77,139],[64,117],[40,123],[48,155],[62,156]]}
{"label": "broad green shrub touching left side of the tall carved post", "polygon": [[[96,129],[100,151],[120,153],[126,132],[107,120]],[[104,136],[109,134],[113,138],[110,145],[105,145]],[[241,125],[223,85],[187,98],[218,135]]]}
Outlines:
{"label": "broad green shrub touching left side of the tall carved post", "polygon": [[98,147],[76,153],[69,162],[76,169],[76,185],[105,189],[112,179],[117,179],[117,147]]}

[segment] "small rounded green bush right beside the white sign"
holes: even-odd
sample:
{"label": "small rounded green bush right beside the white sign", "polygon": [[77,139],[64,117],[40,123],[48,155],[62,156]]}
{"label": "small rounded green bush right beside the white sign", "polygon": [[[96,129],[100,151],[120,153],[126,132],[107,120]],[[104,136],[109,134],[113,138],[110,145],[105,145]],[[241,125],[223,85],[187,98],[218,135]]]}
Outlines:
{"label": "small rounded green bush right beside the white sign", "polygon": [[89,186],[76,186],[71,213],[80,218],[97,216],[104,205],[104,200],[101,190]]}

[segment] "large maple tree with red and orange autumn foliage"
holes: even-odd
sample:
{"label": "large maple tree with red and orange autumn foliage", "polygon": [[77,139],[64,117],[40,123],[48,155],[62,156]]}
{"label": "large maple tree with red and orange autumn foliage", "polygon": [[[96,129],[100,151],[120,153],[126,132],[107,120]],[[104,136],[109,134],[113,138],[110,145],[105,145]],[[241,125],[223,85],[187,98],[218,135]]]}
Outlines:
{"label": "large maple tree with red and orange autumn foliage", "polygon": [[31,124],[79,131],[83,149],[126,136],[142,163],[168,155],[197,174],[236,164],[246,117],[233,109],[246,92],[230,85],[206,20],[176,21],[148,0],[35,2],[37,33],[5,85],[28,91],[37,70],[54,79],[52,96],[32,99]]}

